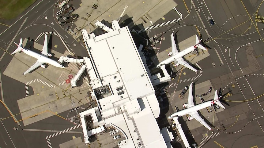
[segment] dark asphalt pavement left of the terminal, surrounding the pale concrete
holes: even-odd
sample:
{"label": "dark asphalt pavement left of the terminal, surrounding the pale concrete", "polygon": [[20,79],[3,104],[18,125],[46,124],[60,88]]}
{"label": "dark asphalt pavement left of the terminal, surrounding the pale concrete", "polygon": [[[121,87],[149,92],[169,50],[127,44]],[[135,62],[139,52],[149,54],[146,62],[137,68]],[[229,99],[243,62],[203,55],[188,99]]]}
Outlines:
{"label": "dark asphalt pavement left of the terminal, surrounding the pale concrete", "polygon": [[[13,56],[9,53],[13,52],[16,47],[13,42],[19,42],[19,39],[28,38],[31,42],[35,42],[35,39],[40,37],[40,34],[43,32],[51,32],[51,35],[48,34],[48,47],[52,50],[55,50],[60,53],[64,53],[66,50],[66,46],[69,48],[69,51],[75,53],[77,56],[88,56],[86,49],[83,47],[82,43],[77,42],[71,35],[69,35],[64,28],[60,27],[57,23],[57,20],[54,19],[54,14],[59,10],[55,7],[55,2],[57,1],[43,1],[37,0],[33,5],[31,5],[28,9],[26,9],[21,15],[19,15],[16,19],[5,21],[7,25],[10,27],[1,26],[1,34],[0,34],[0,70],[1,70],[1,84],[2,90],[4,94],[4,101],[6,106],[10,109],[10,111],[15,114],[15,117],[18,121],[21,120],[21,115],[19,107],[17,105],[17,100],[22,99],[25,96],[25,84],[21,83],[17,80],[9,78],[6,75],[3,75],[7,65],[12,60]],[[80,1],[76,1],[76,9],[81,3]],[[23,23],[24,22],[24,23]],[[57,34],[52,34],[55,32]],[[61,37],[63,39],[61,39]],[[66,42],[67,45],[62,43],[62,40]],[[12,41],[12,42],[11,42]],[[38,41],[39,44],[43,45],[44,37],[41,36]],[[10,44],[10,45],[9,45]],[[57,45],[57,48],[55,47]],[[9,48],[8,48],[9,47]],[[41,52],[33,47],[30,47],[31,50],[35,52]],[[7,51],[7,52],[5,52]],[[52,51],[51,51],[52,53]],[[21,77],[23,76],[21,74]],[[29,90],[32,95],[32,87],[29,86]],[[52,116],[46,118],[42,121],[36,122],[34,124],[28,125],[24,127],[23,122],[19,123],[21,126],[19,127],[17,123],[14,122],[12,116],[7,111],[7,109],[1,104],[0,105],[0,147],[48,147],[46,136],[51,135],[54,132],[40,132],[40,131],[22,131],[23,128],[30,129],[50,129],[50,130],[64,130],[70,127],[75,126],[72,122],[62,119],[58,116]],[[62,116],[67,117],[68,111],[66,113],[62,113]],[[13,128],[18,128],[18,130],[14,130]],[[81,132],[81,128],[80,131]],[[58,145],[62,142],[65,142],[65,139],[72,139],[72,136],[76,135],[76,137],[83,136],[83,134],[65,134],[60,135],[60,138],[55,138],[53,141],[53,147],[58,147]],[[52,141],[51,141],[52,142]]]}

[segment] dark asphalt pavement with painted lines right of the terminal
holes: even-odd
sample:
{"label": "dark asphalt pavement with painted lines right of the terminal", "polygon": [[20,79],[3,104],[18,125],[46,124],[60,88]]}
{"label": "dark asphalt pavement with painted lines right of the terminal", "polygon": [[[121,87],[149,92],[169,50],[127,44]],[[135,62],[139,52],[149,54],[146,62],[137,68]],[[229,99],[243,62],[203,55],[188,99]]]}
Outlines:
{"label": "dark asphalt pavement with painted lines right of the terminal", "polygon": [[[152,36],[160,35],[161,37],[166,38],[166,40],[162,41],[160,45],[157,45],[157,47],[160,48],[159,52],[162,52],[171,46],[169,36],[172,31],[177,32],[179,30],[176,35],[177,40],[181,42],[193,34],[199,35],[196,27],[191,27],[192,25],[197,25],[197,28],[201,30],[201,32],[199,33],[202,34],[202,38],[204,40],[208,39],[208,42],[205,41],[205,44],[209,46],[208,52],[210,56],[198,61],[203,73],[201,77],[194,81],[196,81],[196,83],[201,83],[203,81],[210,80],[214,89],[217,89],[219,91],[219,89],[221,88],[222,94],[226,94],[228,92],[232,94],[232,96],[224,96],[226,103],[229,105],[228,106],[224,104],[227,111],[220,112],[216,114],[216,116],[220,121],[219,124],[222,124],[225,127],[229,127],[232,126],[236,121],[232,120],[232,122],[229,122],[230,120],[225,120],[228,120],[228,118],[235,118],[236,116],[242,114],[247,114],[248,117],[246,117],[246,119],[237,121],[236,124],[232,126],[236,126],[236,128],[242,129],[243,126],[245,126],[247,122],[251,120],[251,118],[261,118],[264,113],[264,111],[262,110],[263,97],[261,96],[263,93],[263,87],[262,84],[260,84],[263,79],[263,70],[261,70],[263,67],[262,63],[264,58],[262,52],[263,37],[261,37],[263,36],[262,33],[264,33],[262,30],[263,25],[258,23],[258,30],[256,30],[253,24],[255,22],[251,23],[251,19],[249,17],[251,16],[254,21],[254,13],[259,7],[259,3],[255,1],[213,2],[197,0],[193,0],[193,3],[196,6],[195,8],[194,5],[192,5],[191,1],[185,1],[182,3],[177,2],[178,6],[176,8],[183,14],[183,19],[179,22],[180,25],[175,23],[156,28],[149,32],[149,34],[151,34]],[[190,10],[189,15],[186,9],[184,10],[184,8]],[[260,6],[260,8],[262,7]],[[201,19],[199,17],[196,17],[197,12],[199,13]],[[261,14],[259,13],[259,15]],[[185,18],[185,16],[187,17]],[[176,17],[176,14],[174,14],[173,11],[170,11],[164,17],[166,18],[166,20],[170,20],[173,19],[173,17]],[[210,19],[214,20],[214,25],[211,25],[209,23]],[[201,20],[204,24],[204,27],[201,23]],[[160,22],[158,23],[162,23],[161,19],[159,21]],[[154,25],[155,24],[157,24],[157,22],[154,23]],[[205,28],[208,34],[204,30]],[[209,38],[208,35],[209,37],[211,36],[211,38]],[[168,73],[170,73],[171,68],[167,69]],[[178,74],[181,73],[180,71],[174,72]],[[183,75],[183,72],[186,72],[186,75]],[[179,99],[178,94],[175,94],[176,91],[183,89],[183,87],[188,86],[191,83],[191,81],[180,81],[188,78],[193,78],[195,73],[190,74],[191,72],[191,70],[184,69],[180,76],[175,77],[174,80],[157,86],[157,88],[167,88],[167,96],[169,96],[168,104],[170,104],[171,101],[177,101],[177,99]],[[200,94],[202,92],[196,93]],[[247,101],[249,99],[253,100]],[[243,110],[242,108],[242,110],[239,110],[240,105],[243,105],[245,109]],[[240,106],[240,108],[241,107],[242,106]],[[168,115],[169,113],[173,113],[172,108],[174,108],[174,106],[169,105],[168,108],[166,107],[166,109],[164,109],[165,112],[167,112],[166,115]],[[232,116],[230,115],[230,113],[228,113],[231,110],[232,112],[234,112]],[[247,133],[233,133],[232,135],[236,135],[236,137],[232,137],[231,134],[229,134],[229,136],[227,135],[228,133],[220,132],[220,136],[216,136],[214,139],[217,139],[216,141],[224,147],[239,147],[243,146],[243,143],[246,142],[242,142],[241,144],[237,143],[237,137],[247,137],[247,135],[254,135],[255,132],[258,131],[256,132],[257,134],[255,134],[255,136],[258,138],[256,138],[256,140],[253,140],[254,138],[250,139],[250,142],[247,143],[247,146],[262,146],[260,142],[258,142],[258,140],[261,139],[264,134],[262,132],[263,121],[259,119],[258,122],[255,120],[255,122],[252,121],[252,123],[250,123],[252,125],[248,127],[248,129],[253,128],[252,132],[248,130]],[[214,124],[217,125],[218,123]],[[231,129],[232,128],[230,128],[230,130]],[[214,129],[214,132],[217,132],[217,129]],[[208,135],[211,134],[212,133],[208,133]],[[203,137],[203,135],[196,136],[195,141],[196,143],[198,143],[198,145],[202,141]],[[225,145],[226,140],[228,141],[228,143],[236,144]],[[207,140],[203,141],[203,143],[205,143],[206,141]],[[212,146],[217,146],[216,143],[214,143],[213,139],[209,140],[209,142],[204,145],[204,147]]]}

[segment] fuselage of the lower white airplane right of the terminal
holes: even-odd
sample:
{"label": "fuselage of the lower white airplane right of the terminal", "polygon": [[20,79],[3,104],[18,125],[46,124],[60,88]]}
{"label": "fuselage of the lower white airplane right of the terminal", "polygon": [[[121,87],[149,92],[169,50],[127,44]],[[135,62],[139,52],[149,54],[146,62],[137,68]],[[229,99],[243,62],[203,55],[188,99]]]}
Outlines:
{"label": "fuselage of the lower white airplane right of the terminal", "polygon": [[190,108],[186,108],[186,109],[180,110],[180,111],[172,114],[170,116],[170,119],[172,119],[173,116],[184,116],[184,115],[190,114],[190,113],[192,113],[194,111],[198,111],[198,110],[204,109],[206,107],[212,106],[217,101],[219,101],[219,100],[206,101],[204,103],[197,104],[197,105],[192,106]]}

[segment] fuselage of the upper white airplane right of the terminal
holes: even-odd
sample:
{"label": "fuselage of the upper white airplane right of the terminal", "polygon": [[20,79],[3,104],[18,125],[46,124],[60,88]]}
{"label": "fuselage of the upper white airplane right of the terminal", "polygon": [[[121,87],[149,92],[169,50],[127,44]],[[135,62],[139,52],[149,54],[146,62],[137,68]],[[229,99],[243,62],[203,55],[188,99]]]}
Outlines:
{"label": "fuselage of the upper white airplane right of the terminal", "polygon": [[194,46],[191,46],[191,47],[189,47],[189,48],[187,48],[187,49],[185,49],[185,50],[183,50],[183,51],[181,51],[181,52],[175,54],[174,56],[171,56],[171,57],[169,57],[168,59],[166,59],[166,60],[160,62],[160,63],[157,65],[157,67],[160,67],[160,66],[163,65],[163,64],[167,65],[167,64],[169,64],[169,63],[172,63],[173,61],[176,61],[177,59],[179,59],[179,58],[181,58],[181,57],[187,55],[188,53],[193,52],[194,49],[195,49]]}

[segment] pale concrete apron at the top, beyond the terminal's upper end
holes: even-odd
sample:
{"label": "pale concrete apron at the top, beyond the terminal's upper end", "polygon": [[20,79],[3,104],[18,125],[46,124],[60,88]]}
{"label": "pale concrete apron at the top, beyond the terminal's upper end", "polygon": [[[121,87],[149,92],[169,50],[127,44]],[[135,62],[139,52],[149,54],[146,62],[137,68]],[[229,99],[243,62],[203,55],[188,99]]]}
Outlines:
{"label": "pale concrete apron at the top, beyond the terminal's upper end", "polygon": [[[107,5],[104,5],[106,3]],[[94,5],[97,5],[96,9],[93,8]],[[75,21],[77,27],[72,30],[86,29],[88,32],[92,32],[97,28],[94,25],[97,20],[106,20],[109,23],[112,20],[118,20],[122,23],[122,16],[124,15],[129,16],[133,20],[133,24],[129,24],[129,27],[141,23],[143,23],[144,27],[151,26],[176,7],[177,4],[173,0],[113,0],[111,3],[106,0],[92,0],[89,3],[82,1],[80,6],[74,11],[80,17]],[[73,33],[70,34],[73,37],[75,36]],[[82,38],[80,32],[77,32],[76,35]]]}

